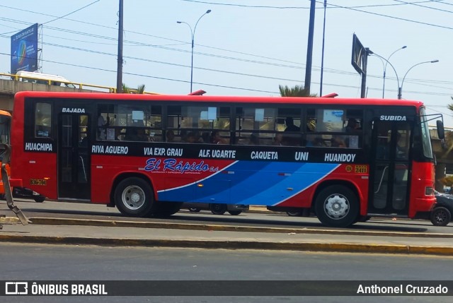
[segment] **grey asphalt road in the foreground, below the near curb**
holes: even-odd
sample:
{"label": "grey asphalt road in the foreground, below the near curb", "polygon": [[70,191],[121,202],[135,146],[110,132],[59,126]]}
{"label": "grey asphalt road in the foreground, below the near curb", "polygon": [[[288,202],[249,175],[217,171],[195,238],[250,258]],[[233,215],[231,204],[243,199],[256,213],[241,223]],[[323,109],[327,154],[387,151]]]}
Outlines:
{"label": "grey asphalt road in the foreground, below the near curb", "polygon": [[[0,280],[449,280],[453,257],[0,243]],[[6,261],[10,260],[10,261]],[[323,282],[319,282],[323,287]],[[181,283],[181,287],[183,284]],[[206,286],[208,287],[208,286]],[[259,291],[259,290],[258,290]],[[265,290],[261,290],[265,291]],[[328,289],[326,291],[329,291]],[[453,291],[453,290],[451,290]],[[2,297],[1,302],[451,302],[451,297]]]}

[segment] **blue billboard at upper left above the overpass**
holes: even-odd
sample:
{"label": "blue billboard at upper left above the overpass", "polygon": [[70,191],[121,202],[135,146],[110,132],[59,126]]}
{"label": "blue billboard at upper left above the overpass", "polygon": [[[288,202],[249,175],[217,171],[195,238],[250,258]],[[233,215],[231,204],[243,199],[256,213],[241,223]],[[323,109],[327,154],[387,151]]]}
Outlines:
{"label": "blue billboard at upper left above the overpass", "polygon": [[38,70],[38,23],[11,36],[11,73]]}

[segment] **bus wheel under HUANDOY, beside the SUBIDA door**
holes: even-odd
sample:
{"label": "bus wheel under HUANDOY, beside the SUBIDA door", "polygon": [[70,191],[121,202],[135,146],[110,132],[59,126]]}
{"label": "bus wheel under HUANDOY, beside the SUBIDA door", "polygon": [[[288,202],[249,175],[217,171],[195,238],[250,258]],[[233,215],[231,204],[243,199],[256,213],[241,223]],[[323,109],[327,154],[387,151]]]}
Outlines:
{"label": "bus wheel under HUANDOY, beside the SUBIDA door", "polygon": [[359,202],[354,192],[343,185],[331,185],[316,197],[318,219],[329,227],[348,227],[357,221]]}

